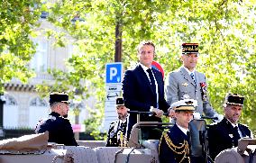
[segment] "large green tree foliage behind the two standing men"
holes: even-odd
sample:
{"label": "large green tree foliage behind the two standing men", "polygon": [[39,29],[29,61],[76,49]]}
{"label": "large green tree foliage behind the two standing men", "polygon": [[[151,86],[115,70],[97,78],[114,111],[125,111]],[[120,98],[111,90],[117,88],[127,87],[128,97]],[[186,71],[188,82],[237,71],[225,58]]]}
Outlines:
{"label": "large green tree foliage behind the two standing men", "polygon": [[69,32],[80,50],[67,61],[68,73],[54,71],[59,77],[56,86],[75,86],[86,92],[87,86],[80,81],[87,81],[103,111],[105,63],[114,62],[114,30],[119,23],[125,68],[136,63],[136,45],[142,40],[156,43],[155,59],[166,73],[181,65],[182,42],[198,42],[197,69],[206,73],[212,105],[223,113],[225,93],[245,95],[241,121],[256,130],[252,122],[256,115],[254,1],[61,0],[45,4],[45,9],[48,20]]}

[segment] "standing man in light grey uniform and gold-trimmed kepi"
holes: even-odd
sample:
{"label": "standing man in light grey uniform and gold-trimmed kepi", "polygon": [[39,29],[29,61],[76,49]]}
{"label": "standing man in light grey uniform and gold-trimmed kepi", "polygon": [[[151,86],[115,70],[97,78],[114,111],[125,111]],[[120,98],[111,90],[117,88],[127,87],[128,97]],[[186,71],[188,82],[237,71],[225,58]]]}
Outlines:
{"label": "standing man in light grey uniform and gold-trimmed kepi", "polygon": [[[197,72],[198,43],[183,43],[181,60],[183,66],[170,72],[165,86],[166,99],[169,104],[178,100],[192,98],[197,100],[196,112],[209,117],[223,119],[222,114],[215,112],[207,95],[206,76]],[[171,116],[173,111],[170,110]]]}

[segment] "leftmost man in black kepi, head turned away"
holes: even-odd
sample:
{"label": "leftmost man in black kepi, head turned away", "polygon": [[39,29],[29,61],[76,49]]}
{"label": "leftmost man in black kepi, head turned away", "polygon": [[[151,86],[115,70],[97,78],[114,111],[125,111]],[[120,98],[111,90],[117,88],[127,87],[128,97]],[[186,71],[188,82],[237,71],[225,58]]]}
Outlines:
{"label": "leftmost man in black kepi, head turned away", "polygon": [[48,142],[78,146],[68,117],[69,95],[65,93],[50,93],[51,113],[47,119],[41,120],[35,129],[36,133],[49,131]]}

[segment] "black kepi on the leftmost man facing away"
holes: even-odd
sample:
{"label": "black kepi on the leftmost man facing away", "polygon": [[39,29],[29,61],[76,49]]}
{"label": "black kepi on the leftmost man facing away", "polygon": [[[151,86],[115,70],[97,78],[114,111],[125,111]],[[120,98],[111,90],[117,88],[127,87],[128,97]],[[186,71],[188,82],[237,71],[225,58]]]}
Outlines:
{"label": "black kepi on the leftmost man facing away", "polygon": [[69,95],[63,92],[51,92],[49,95],[49,103],[67,103],[70,104],[69,102]]}

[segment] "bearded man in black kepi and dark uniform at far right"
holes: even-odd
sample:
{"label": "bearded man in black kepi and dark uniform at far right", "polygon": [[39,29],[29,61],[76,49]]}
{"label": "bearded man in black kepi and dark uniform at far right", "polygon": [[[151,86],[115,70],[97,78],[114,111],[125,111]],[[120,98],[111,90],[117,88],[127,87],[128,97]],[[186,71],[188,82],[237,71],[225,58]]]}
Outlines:
{"label": "bearded man in black kepi and dark uniform at far right", "polygon": [[252,138],[250,129],[238,123],[243,100],[243,95],[227,94],[224,101],[224,119],[209,126],[208,144],[213,160],[222,150],[237,147],[241,138]]}

